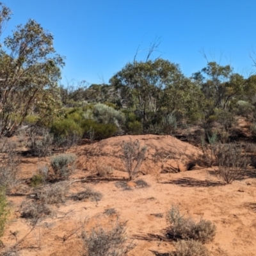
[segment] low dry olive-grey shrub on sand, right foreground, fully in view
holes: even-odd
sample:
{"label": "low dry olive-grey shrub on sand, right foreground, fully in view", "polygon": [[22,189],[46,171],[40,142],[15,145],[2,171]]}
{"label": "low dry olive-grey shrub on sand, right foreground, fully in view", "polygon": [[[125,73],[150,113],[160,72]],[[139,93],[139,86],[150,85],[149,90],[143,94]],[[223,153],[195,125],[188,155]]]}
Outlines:
{"label": "low dry olive-grey shrub on sand, right foreground, fully in view", "polygon": [[180,215],[179,208],[172,205],[167,213],[167,220],[171,224],[168,235],[175,239],[193,239],[202,243],[212,241],[216,233],[216,226],[211,221],[200,220],[196,223],[191,218]]}

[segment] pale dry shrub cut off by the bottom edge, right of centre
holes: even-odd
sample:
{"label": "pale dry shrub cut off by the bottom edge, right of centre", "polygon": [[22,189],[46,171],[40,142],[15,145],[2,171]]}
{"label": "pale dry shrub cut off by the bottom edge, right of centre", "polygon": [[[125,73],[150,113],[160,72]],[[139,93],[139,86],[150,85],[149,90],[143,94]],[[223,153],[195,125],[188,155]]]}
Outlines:
{"label": "pale dry shrub cut off by the bottom edge, right of centre", "polygon": [[175,253],[173,256],[209,256],[209,250],[204,244],[195,240],[180,240],[174,243]]}

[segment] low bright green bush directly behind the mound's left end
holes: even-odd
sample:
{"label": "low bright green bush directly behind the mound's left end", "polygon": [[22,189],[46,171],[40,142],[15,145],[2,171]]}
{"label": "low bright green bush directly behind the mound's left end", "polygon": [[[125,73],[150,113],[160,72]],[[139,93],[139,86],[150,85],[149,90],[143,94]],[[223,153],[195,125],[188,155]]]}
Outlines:
{"label": "low bright green bush directly behind the mound's left end", "polygon": [[90,137],[90,132],[93,131],[95,140],[109,138],[118,131],[118,127],[116,127],[115,124],[99,124],[91,119],[84,120],[82,123],[82,128],[88,138]]}

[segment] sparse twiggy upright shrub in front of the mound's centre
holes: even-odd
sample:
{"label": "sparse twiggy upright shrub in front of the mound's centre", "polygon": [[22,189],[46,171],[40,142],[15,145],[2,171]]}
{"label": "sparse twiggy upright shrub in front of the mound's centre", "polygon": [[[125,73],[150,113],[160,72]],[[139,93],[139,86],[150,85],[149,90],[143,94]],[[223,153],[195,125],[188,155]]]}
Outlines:
{"label": "sparse twiggy upright shrub in front of the mound's centre", "polygon": [[122,153],[126,171],[129,174],[129,179],[132,180],[139,172],[141,163],[145,159],[147,147],[140,147],[140,142],[129,141],[122,143]]}

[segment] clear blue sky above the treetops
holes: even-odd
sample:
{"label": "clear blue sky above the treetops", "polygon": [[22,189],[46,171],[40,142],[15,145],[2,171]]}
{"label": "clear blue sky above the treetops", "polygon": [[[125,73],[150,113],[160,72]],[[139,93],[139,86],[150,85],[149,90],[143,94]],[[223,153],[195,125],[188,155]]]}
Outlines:
{"label": "clear blue sky above the treetops", "polygon": [[[209,60],[248,75],[256,51],[255,0],[2,0],[12,9],[4,32],[31,18],[54,35],[66,56],[62,83],[101,83],[132,61],[138,45],[161,37],[155,57],[178,63],[186,76]],[[144,60],[146,51],[138,54]],[[255,56],[256,59],[256,56]],[[221,60],[221,61],[220,61]]]}

